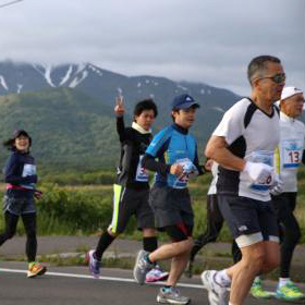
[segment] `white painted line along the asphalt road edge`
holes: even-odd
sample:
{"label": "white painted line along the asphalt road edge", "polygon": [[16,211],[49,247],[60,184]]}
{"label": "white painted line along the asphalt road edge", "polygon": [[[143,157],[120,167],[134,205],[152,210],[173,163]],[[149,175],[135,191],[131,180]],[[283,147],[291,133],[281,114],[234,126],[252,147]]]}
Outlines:
{"label": "white painted line along the asphalt road edge", "polygon": [[[0,272],[27,273],[26,270],[8,269],[8,268],[0,268]],[[94,279],[91,276],[75,274],[75,273],[62,273],[62,272],[49,272],[49,271],[47,271],[46,276],[97,280],[97,279]],[[113,278],[113,277],[99,277],[98,280],[135,283],[134,279]],[[155,282],[155,283],[149,283],[149,284],[163,285],[164,282]],[[187,283],[179,283],[178,286],[204,289],[203,285],[199,285],[199,284],[187,284]]]}

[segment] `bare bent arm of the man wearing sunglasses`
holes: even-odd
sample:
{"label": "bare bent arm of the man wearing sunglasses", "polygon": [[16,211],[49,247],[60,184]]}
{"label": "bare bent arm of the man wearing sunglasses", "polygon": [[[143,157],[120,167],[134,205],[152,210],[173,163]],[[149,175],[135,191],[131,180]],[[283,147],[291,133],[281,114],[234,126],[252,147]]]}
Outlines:
{"label": "bare bent arm of the man wearing sunglasses", "polygon": [[207,144],[205,154],[225,169],[243,171],[245,160],[234,156],[228,148],[228,144],[222,136],[212,135]]}

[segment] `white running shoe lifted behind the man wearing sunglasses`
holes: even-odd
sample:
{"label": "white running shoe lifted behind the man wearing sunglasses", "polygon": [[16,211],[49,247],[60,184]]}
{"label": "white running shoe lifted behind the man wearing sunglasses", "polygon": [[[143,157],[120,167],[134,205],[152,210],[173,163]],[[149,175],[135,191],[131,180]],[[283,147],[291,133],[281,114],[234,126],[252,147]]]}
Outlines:
{"label": "white running shoe lifted behind the man wearing sunglasses", "polygon": [[202,273],[204,288],[208,291],[210,305],[228,305],[229,293],[225,286],[221,286],[215,280],[217,271],[206,270]]}

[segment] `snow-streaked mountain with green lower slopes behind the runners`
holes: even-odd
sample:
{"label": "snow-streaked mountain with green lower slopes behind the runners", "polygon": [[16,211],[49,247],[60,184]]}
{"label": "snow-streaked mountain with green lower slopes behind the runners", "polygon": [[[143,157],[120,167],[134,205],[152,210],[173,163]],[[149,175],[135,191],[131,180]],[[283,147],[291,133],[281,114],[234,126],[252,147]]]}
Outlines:
{"label": "snow-streaked mountain with green lower slopes behind the runners", "polygon": [[[198,103],[193,133],[203,147],[223,112],[240,97],[206,84],[156,76],[125,76],[90,63],[42,65],[0,62],[0,138],[16,127],[28,130],[35,156],[57,166],[113,167],[118,139],[113,101],[125,98],[126,123],[134,105],[154,98],[159,109],[156,130],[171,123],[174,96],[188,93]],[[37,146],[36,146],[37,145]],[[0,155],[0,160],[4,155]]]}

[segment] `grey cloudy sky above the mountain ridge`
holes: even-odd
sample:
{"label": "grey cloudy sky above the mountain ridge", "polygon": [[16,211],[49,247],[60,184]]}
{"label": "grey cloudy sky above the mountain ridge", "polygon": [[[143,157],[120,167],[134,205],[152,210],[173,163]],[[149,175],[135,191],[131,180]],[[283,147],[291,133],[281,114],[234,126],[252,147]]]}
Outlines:
{"label": "grey cloudy sky above the mountain ridge", "polygon": [[91,62],[243,95],[247,63],[269,53],[305,89],[304,19],[304,0],[23,0],[0,8],[0,61]]}

